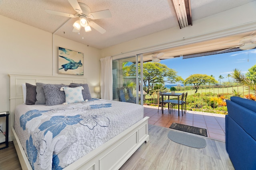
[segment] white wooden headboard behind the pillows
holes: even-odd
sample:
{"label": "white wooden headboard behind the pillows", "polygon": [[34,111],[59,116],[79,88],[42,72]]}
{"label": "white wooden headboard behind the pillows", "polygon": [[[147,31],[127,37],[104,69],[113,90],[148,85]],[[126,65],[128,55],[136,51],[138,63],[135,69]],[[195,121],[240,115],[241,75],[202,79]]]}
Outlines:
{"label": "white wooden headboard behind the pillows", "polygon": [[[29,83],[36,85],[37,82],[47,84],[70,84],[70,83],[86,83],[86,78],[72,77],[72,76],[42,76],[42,75],[28,75],[28,74],[9,74],[10,76],[10,127],[14,123],[15,107],[23,103],[22,84]],[[11,134],[11,133],[9,133]],[[9,136],[10,141],[12,139]]]}

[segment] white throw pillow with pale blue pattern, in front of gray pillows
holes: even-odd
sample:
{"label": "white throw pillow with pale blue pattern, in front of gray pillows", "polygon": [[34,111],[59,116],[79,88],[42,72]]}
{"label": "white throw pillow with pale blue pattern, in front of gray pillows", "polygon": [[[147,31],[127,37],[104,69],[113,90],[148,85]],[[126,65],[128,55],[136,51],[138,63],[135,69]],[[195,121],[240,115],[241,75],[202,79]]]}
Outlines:
{"label": "white throw pillow with pale blue pattern, in front of gray pillows", "polygon": [[82,86],[79,87],[62,87],[60,88],[61,91],[64,90],[65,96],[66,96],[66,103],[78,103],[78,102],[84,102],[82,90],[84,88]]}

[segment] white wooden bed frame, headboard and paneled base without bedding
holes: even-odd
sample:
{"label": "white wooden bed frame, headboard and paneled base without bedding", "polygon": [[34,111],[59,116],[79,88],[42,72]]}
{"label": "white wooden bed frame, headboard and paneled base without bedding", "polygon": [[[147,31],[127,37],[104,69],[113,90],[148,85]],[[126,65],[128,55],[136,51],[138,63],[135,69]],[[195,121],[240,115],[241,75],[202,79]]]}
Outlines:
{"label": "white wooden bed frame, headboard and paneled base without bedding", "polygon": [[[23,170],[32,170],[28,158],[13,128],[14,110],[23,103],[21,84],[36,82],[50,84],[86,83],[86,79],[64,76],[40,76],[9,74],[10,76],[10,141],[13,141]],[[100,147],[92,150],[64,170],[118,170],[132,154],[144,143],[148,142],[148,118],[144,117],[116,137]],[[9,129],[10,129],[9,127]]]}

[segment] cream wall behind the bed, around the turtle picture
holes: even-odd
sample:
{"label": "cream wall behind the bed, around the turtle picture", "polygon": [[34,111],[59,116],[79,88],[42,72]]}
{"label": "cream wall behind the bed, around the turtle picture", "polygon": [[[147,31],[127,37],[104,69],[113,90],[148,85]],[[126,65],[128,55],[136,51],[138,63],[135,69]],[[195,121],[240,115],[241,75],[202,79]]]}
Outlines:
{"label": "cream wall behind the bed, around the turtle picture", "polygon": [[[100,85],[100,50],[4,16],[0,16],[0,23],[0,112],[10,110],[8,74],[65,76],[58,74],[57,47],[84,53],[84,76],[80,77],[86,78],[92,97],[96,97],[94,86]],[[0,124],[5,125],[1,118]]]}

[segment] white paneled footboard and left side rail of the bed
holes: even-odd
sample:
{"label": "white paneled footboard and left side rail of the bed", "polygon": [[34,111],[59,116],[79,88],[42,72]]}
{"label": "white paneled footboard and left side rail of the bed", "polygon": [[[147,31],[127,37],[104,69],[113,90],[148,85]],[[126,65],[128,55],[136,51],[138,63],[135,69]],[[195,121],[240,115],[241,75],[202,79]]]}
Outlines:
{"label": "white paneled footboard and left side rail of the bed", "polygon": [[[118,170],[144,142],[148,142],[148,119],[144,117],[64,170]],[[12,132],[22,169],[32,170],[13,127]]]}

